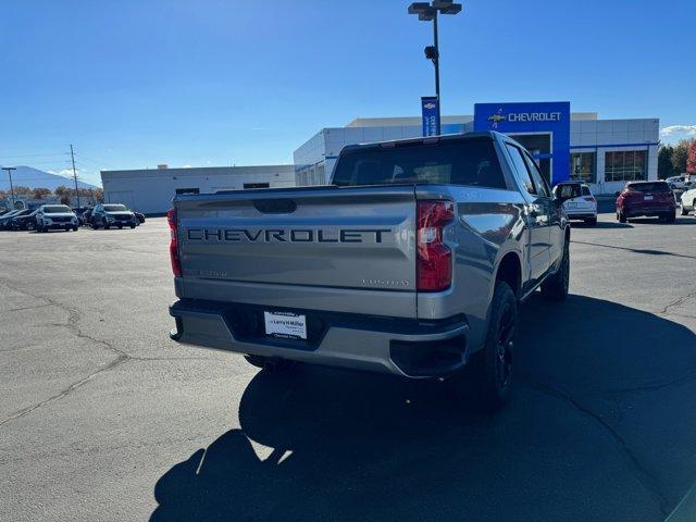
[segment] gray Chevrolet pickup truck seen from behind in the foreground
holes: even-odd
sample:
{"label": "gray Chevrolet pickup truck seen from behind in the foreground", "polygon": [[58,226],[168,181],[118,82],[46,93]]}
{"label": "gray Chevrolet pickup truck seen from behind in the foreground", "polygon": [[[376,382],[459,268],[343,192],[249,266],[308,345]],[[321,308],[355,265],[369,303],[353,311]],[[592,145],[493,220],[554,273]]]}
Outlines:
{"label": "gray Chevrolet pickup truck seen from behind in the foreground", "polygon": [[518,304],[568,295],[562,202],[498,133],[349,146],[328,186],[176,196],[171,337],[269,370],[447,377],[499,408]]}

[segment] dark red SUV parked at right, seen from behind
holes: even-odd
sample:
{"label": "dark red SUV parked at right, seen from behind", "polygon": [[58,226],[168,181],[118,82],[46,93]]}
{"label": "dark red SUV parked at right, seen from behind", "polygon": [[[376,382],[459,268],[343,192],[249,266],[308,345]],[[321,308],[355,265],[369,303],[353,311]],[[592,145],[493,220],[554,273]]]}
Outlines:
{"label": "dark red SUV parked at right, seen from behind", "polygon": [[625,223],[638,215],[657,215],[661,221],[674,223],[676,201],[664,182],[631,182],[618,192],[617,220]]}

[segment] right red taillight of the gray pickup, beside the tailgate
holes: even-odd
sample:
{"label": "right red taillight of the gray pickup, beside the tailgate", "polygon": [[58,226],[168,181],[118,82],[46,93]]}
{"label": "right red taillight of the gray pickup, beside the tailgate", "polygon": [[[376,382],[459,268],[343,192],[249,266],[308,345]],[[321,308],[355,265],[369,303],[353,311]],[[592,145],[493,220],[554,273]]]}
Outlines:
{"label": "right red taillight of the gray pickup, beside the tailgate", "polygon": [[451,201],[418,202],[418,289],[446,290],[452,283],[452,251],[443,243],[443,228],[455,219]]}

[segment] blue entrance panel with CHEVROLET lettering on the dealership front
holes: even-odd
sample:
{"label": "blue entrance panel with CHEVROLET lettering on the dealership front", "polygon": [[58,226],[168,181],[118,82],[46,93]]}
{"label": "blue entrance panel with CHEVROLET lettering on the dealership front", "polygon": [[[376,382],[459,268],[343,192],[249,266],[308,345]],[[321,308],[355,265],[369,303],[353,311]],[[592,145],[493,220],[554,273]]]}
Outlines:
{"label": "blue entrance panel with CHEVROLET lettering on the dealership front", "polygon": [[[498,130],[549,160],[549,182],[570,177],[570,102],[476,103],[474,130]],[[544,169],[543,169],[544,170]]]}

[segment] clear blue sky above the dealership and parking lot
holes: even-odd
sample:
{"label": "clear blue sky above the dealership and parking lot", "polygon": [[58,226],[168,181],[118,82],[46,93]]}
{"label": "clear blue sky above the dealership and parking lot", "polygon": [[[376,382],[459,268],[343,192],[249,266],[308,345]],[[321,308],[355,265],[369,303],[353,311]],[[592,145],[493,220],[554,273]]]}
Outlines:
{"label": "clear blue sky above the dealership and parking lot", "polygon": [[[324,126],[418,115],[432,26],[397,0],[2,2],[0,164],[291,162]],[[440,24],[444,114],[570,100],[696,135],[693,1],[471,0]]]}

